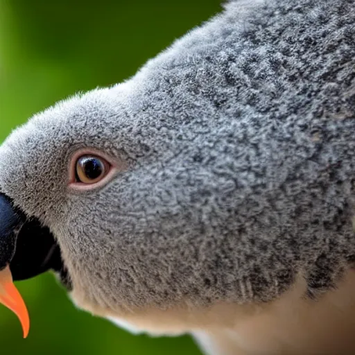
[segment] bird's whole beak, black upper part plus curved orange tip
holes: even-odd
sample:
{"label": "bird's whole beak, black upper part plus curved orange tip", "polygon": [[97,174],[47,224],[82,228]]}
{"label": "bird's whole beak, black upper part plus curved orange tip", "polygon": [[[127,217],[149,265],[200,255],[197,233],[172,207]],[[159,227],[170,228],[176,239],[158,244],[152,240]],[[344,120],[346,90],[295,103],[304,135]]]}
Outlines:
{"label": "bird's whole beak, black upper part plus curved orange tip", "polygon": [[0,303],[17,315],[24,338],[28,335],[30,321],[13,281],[30,279],[47,270],[59,272],[69,288],[69,275],[62,263],[60,248],[49,229],[35,219],[27,220],[13,207],[10,198],[0,193]]}

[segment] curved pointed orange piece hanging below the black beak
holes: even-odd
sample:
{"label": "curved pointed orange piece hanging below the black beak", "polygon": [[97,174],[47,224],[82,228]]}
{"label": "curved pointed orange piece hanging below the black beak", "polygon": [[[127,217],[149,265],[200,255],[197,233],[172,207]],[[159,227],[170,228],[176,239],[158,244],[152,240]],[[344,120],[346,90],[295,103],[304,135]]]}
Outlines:
{"label": "curved pointed orange piece hanging below the black beak", "polygon": [[24,338],[26,338],[30,330],[30,318],[28,317],[26,304],[12,282],[12,275],[8,266],[0,271],[0,303],[17,315],[24,331]]}

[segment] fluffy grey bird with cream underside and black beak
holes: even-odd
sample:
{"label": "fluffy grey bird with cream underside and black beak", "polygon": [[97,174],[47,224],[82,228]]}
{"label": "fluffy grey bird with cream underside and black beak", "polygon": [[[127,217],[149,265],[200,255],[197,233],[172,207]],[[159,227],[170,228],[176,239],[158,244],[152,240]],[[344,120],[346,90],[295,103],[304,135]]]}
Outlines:
{"label": "fluffy grey bird with cream underside and black beak", "polygon": [[354,0],[227,1],[35,114],[0,146],[0,284],[52,270],[205,354],[355,354],[354,38]]}

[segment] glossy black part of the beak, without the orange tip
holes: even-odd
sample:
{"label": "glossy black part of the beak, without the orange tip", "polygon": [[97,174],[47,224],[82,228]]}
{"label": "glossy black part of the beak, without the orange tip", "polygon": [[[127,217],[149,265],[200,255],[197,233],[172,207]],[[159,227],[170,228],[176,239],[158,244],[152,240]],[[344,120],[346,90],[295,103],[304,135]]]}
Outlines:
{"label": "glossy black part of the beak, without the orange tip", "polygon": [[71,288],[60,248],[49,228],[13,207],[0,193],[0,270],[10,265],[12,279],[31,279],[48,270],[58,272],[64,286]]}

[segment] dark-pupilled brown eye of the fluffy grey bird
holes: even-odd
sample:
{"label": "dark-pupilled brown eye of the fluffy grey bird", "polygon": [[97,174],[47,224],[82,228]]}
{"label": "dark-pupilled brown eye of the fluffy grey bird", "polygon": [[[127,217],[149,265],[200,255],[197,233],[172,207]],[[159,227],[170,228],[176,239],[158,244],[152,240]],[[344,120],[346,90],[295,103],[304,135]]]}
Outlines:
{"label": "dark-pupilled brown eye of the fluffy grey bird", "polygon": [[94,155],[83,155],[76,161],[76,182],[95,184],[107,175],[110,165],[105,159]]}

